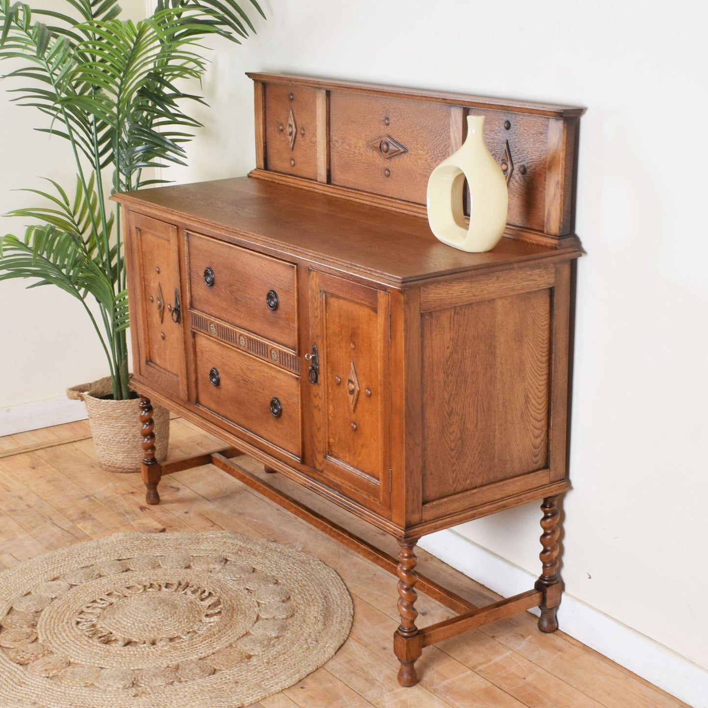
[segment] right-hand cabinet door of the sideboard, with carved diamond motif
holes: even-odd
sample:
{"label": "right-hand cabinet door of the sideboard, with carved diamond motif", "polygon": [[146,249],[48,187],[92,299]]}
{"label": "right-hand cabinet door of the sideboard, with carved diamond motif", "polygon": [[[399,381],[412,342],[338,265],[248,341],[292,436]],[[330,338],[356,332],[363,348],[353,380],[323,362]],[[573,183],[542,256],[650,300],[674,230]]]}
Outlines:
{"label": "right-hand cabinet door of the sideboard, with carved diamond motif", "polygon": [[388,295],[311,271],[310,303],[315,467],[348,496],[389,508]]}

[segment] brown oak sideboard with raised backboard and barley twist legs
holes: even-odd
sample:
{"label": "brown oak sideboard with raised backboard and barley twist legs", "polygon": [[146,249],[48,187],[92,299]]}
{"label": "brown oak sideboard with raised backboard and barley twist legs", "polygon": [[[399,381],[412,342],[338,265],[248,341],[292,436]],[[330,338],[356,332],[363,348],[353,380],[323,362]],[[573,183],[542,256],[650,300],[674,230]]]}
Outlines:
{"label": "brown oak sideboard with raised backboard and barley twist legs", "polygon": [[[252,74],[257,168],[117,195],[125,213],[143,478],[212,462],[399,578],[402,685],[423,647],[541,607],[557,627],[569,489],[581,108]],[[434,238],[433,168],[469,113],[509,190],[489,253]],[[232,446],[158,464],[155,399]],[[243,452],[396,537],[398,559],[229,461]],[[477,608],[415,571],[427,533],[542,499],[535,588]],[[459,616],[418,628],[416,588]]]}

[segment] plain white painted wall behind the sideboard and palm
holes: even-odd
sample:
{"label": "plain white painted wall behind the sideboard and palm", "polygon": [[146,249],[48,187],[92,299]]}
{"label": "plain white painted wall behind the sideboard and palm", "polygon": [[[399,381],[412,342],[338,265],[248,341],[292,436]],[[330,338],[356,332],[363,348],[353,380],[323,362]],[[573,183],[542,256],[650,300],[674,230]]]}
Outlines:
{"label": "plain white painted wall behind the sideboard and palm", "polygon": [[[258,23],[258,37],[242,47],[220,44],[212,56],[205,80],[212,110],[201,112],[205,129],[190,167],[171,169],[171,178],[251,169],[246,70],[588,106],[576,222],[588,256],[578,268],[563,575],[569,595],[708,668],[706,8],[688,0],[263,7],[270,19]],[[5,120],[10,113],[0,110]],[[23,119],[17,144],[30,139]],[[13,156],[22,180],[3,174],[4,208],[8,186],[27,183],[35,162]],[[0,297],[3,336],[24,328],[45,343],[37,350],[20,341],[13,353],[42,384],[30,394],[2,365],[0,395],[9,388],[28,401],[74,382],[66,360],[48,363],[69,349],[66,325],[57,327],[57,312],[68,318],[68,308],[55,296],[48,311],[35,304],[29,314],[8,314],[6,298],[17,302],[18,292],[0,285]],[[90,353],[86,362],[100,372]],[[534,504],[458,531],[537,573],[538,519]]]}

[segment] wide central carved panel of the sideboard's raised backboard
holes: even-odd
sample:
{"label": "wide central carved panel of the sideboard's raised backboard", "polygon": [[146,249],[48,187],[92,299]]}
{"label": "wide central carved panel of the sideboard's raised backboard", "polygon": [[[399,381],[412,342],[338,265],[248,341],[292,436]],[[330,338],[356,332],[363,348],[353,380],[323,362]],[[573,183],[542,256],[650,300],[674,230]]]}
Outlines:
{"label": "wide central carved panel of the sideboard's raised backboard", "polygon": [[424,203],[430,173],[450,154],[451,110],[436,103],[333,91],[331,182]]}

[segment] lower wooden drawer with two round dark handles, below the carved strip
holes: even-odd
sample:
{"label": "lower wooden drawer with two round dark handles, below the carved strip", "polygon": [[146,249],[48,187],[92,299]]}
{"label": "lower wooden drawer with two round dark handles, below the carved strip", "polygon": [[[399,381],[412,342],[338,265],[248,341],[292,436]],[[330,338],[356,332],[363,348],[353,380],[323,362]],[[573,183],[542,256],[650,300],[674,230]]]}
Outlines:
{"label": "lower wooden drawer with two round dark handles, below the carved strip", "polygon": [[196,332],[194,351],[198,406],[299,459],[299,377]]}

